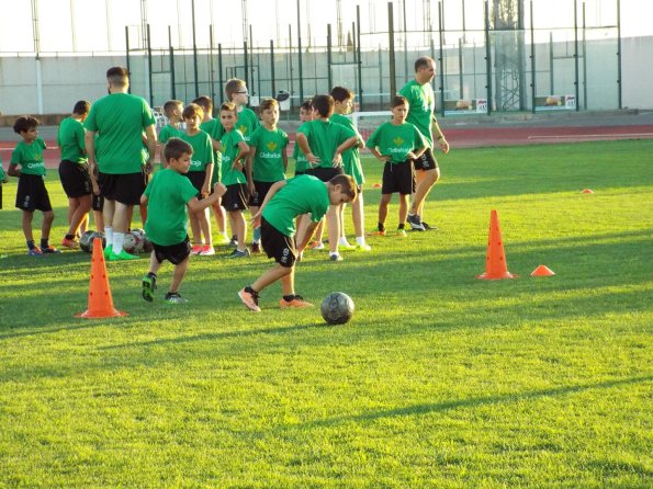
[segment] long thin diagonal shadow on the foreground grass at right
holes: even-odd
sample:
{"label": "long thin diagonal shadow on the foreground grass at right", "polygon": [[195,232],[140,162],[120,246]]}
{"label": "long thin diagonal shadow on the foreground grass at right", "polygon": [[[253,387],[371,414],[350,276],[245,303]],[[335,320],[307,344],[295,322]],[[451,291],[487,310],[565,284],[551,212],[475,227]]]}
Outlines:
{"label": "long thin diagonal shadow on the foreground grass at right", "polygon": [[540,389],[527,393],[515,393],[502,396],[486,396],[470,399],[459,399],[444,402],[436,403],[421,403],[415,406],[407,406],[405,408],[395,408],[386,410],[378,410],[364,412],[361,414],[341,416],[335,418],[328,418],[325,420],[308,421],[306,423],[290,424],[286,428],[293,429],[312,429],[312,428],[328,428],[345,423],[360,423],[360,422],[372,422],[386,418],[401,418],[408,416],[423,416],[438,412],[444,412],[452,409],[459,408],[475,408],[479,406],[497,405],[502,402],[517,402],[522,400],[538,399],[541,397],[555,397],[566,396],[572,394],[578,394],[592,389],[609,389],[612,387],[627,386],[632,384],[649,383],[653,380],[653,375],[642,377],[629,377],[616,380],[607,380],[596,384],[583,384],[564,387],[555,387],[551,389]]}

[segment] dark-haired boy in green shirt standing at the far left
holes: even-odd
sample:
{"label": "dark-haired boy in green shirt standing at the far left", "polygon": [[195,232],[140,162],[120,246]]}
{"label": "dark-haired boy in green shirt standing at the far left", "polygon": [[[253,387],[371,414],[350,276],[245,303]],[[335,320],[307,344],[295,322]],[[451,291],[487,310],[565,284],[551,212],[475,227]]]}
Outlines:
{"label": "dark-haired boy in green shirt standing at the far left", "polygon": [[[22,140],[11,153],[7,170],[10,177],[19,179],[15,206],[23,212],[23,234],[27,243],[27,254],[32,257],[59,252],[49,244],[49,230],[53,220],[55,220],[55,213],[53,213],[49,195],[45,187],[45,163],[43,160],[45,143],[38,137],[38,120],[31,115],[23,115],[15,120],[13,130],[21,136]],[[21,167],[20,170],[18,167]],[[34,243],[32,235],[32,218],[36,209],[43,213],[41,247]]]}

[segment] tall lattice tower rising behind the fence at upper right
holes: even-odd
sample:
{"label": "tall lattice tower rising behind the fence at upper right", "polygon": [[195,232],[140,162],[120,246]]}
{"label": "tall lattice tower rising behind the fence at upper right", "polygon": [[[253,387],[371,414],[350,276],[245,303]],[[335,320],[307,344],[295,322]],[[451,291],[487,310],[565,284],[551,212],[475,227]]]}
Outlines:
{"label": "tall lattice tower rising behind the fence at upper right", "polygon": [[495,33],[496,109],[523,110],[526,100],[523,0],[493,0],[489,23]]}

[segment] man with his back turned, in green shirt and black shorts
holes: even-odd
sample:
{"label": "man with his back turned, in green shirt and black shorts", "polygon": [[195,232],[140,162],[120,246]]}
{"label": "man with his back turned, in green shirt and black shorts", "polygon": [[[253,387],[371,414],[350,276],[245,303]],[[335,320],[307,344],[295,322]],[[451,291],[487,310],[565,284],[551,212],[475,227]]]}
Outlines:
{"label": "man with his back turned, in green shirt and black shorts", "polygon": [[106,81],[109,95],[91,106],[85,123],[86,147],[93,193],[104,196],[104,255],[111,261],[133,260],[137,257],[124,251],[123,243],[133,207],[140,202],[146,177],[151,173],[156,122],[147,102],[127,93],[130,76],[125,68],[109,68]]}

